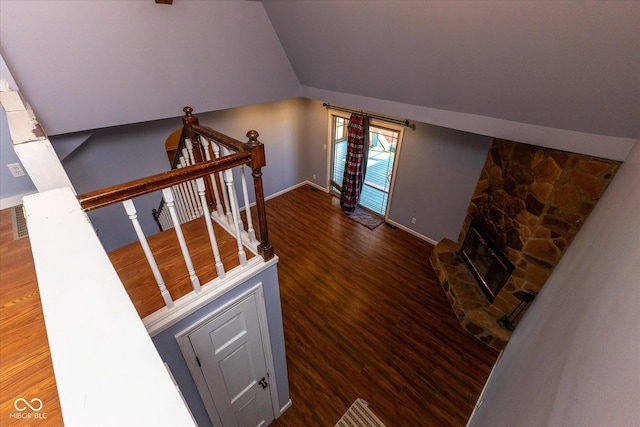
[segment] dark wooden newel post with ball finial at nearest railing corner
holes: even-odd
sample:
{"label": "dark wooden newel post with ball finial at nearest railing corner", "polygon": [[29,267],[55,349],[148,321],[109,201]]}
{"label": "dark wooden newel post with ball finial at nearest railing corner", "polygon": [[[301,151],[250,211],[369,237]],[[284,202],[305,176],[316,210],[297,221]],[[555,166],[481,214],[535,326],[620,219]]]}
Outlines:
{"label": "dark wooden newel post with ball finial at nearest railing corner", "polygon": [[260,229],[260,244],[258,252],[265,261],[273,258],[273,245],[269,242],[269,233],[267,232],[267,210],[264,204],[264,191],[262,189],[262,167],[267,164],[264,155],[264,145],[258,141],[260,135],[255,130],[247,132],[247,149],[251,151],[251,176],[253,176],[253,186],[256,193],[256,209],[258,211],[258,228]]}

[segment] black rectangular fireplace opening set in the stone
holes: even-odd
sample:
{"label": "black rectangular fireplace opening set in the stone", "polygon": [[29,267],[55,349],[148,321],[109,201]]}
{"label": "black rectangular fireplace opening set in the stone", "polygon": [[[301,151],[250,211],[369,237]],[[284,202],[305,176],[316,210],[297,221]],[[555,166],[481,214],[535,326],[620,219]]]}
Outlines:
{"label": "black rectangular fireplace opening set in the stone", "polygon": [[474,221],[471,221],[457,254],[467,264],[487,299],[493,303],[511,276],[513,264]]}

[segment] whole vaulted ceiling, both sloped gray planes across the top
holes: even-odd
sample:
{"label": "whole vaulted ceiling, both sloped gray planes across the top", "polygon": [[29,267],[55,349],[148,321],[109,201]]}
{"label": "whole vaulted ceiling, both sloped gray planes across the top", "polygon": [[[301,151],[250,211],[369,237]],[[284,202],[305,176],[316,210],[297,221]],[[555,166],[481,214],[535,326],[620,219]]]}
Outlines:
{"label": "whole vaulted ceiling, both sloped gray planes across the top", "polygon": [[522,142],[608,144],[613,158],[640,137],[639,1],[0,0],[0,11],[0,52],[50,134],[306,96]]}

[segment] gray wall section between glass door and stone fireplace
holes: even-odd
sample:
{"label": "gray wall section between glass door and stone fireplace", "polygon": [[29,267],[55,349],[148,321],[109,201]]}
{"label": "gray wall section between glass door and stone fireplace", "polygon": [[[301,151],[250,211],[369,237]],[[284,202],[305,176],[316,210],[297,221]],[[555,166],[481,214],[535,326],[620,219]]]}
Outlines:
{"label": "gray wall section between glass door and stone fireplace", "polygon": [[406,128],[389,219],[436,242],[456,240],[491,140],[424,123]]}

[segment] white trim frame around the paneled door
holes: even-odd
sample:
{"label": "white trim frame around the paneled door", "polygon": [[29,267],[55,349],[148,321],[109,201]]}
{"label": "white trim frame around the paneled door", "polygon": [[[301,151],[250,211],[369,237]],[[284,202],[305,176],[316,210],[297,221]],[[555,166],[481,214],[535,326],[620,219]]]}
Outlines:
{"label": "white trim frame around the paneled door", "polygon": [[202,403],[204,403],[204,407],[207,410],[207,414],[209,418],[211,418],[211,422],[214,425],[222,426],[222,421],[220,420],[220,416],[218,415],[218,410],[216,409],[215,402],[211,393],[209,391],[209,387],[207,386],[207,382],[204,378],[204,374],[198,365],[196,360],[196,354],[191,346],[191,341],[189,340],[189,335],[194,332],[196,329],[204,326],[211,320],[215,319],[218,315],[227,311],[234,305],[238,304],[242,300],[250,297],[252,294],[255,294],[256,301],[258,304],[256,306],[258,312],[258,327],[260,328],[260,336],[262,337],[262,349],[264,352],[264,358],[267,365],[267,373],[269,375],[269,393],[271,396],[271,410],[273,411],[274,418],[280,417],[280,402],[278,401],[278,385],[276,382],[275,375],[275,365],[273,363],[273,353],[271,351],[271,337],[269,336],[269,323],[267,319],[267,311],[264,302],[264,290],[262,287],[262,282],[257,285],[252,286],[248,290],[242,292],[237,297],[233,298],[231,301],[223,304],[222,306],[216,308],[213,312],[207,314],[203,318],[197,320],[192,325],[188,326],[186,329],[178,332],[175,335],[175,339],[178,342],[178,347],[182,352],[182,356],[184,357],[184,361],[189,368],[189,372],[193,377],[193,381],[196,384],[196,388],[198,389],[198,393],[200,394],[200,398],[202,399]]}

